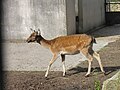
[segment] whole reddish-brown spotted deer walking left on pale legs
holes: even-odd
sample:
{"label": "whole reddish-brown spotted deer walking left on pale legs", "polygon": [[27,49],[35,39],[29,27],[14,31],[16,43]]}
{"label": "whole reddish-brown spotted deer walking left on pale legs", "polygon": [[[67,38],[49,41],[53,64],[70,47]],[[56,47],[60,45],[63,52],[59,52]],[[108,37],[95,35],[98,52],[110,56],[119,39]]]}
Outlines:
{"label": "whole reddish-brown spotted deer walking left on pale legs", "polygon": [[73,55],[79,53],[82,53],[88,59],[88,71],[85,77],[88,77],[90,75],[91,62],[93,61],[93,58],[96,58],[96,60],[98,61],[101,72],[105,73],[101,63],[100,55],[93,50],[93,43],[96,43],[96,39],[93,36],[87,34],[73,34],[58,36],[51,40],[47,40],[41,35],[40,29],[38,29],[37,31],[33,30],[32,28],[30,29],[32,30],[32,33],[26,41],[28,43],[37,42],[41,46],[48,48],[53,54],[53,57],[47,67],[45,77],[48,76],[50,67],[55,62],[58,55],[61,56],[63,76],[65,76],[65,55]]}

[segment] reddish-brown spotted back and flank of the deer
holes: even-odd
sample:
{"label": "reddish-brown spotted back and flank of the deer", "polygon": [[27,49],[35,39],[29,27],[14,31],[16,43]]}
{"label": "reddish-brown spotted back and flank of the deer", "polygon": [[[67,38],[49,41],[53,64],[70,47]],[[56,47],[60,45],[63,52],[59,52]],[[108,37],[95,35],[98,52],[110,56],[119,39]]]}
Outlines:
{"label": "reddish-brown spotted back and flank of the deer", "polygon": [[52,40],[51,49],[58,51],[73,51],[91,43],[91,36],[86,34],[61,36]]}

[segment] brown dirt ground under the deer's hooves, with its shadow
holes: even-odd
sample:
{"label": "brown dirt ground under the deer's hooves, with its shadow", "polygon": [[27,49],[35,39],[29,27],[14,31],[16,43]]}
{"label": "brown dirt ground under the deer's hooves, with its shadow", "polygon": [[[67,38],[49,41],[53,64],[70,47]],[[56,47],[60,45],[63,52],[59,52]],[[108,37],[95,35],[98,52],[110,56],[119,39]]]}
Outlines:
{"label": "brown dirt ground under the deer's hooves, with its shadow", "polygon": [[[120,70],[120,40],[108,44],[99,51],[106,71],[104,76],[99,69],[96,60],[92,63],[90,77],[85,77],[88,62],[84,61],[77,67],[67,70],[67,75],[62,77],[62,72],[50,71],[48,78],[44,77],[44,71],[34,72],[4,72],[4,90],[99,90],[95,89],[96,82],[112,77]],[[67,61],[66,61],[67,62]],[[99,83],[98,83],[99,84]]]}

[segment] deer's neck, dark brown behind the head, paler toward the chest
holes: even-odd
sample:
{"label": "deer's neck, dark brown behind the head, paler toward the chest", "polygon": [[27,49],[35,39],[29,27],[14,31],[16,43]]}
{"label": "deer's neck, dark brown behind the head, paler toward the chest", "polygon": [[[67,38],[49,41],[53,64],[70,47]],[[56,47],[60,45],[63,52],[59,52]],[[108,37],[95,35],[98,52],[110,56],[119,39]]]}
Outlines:
{"label": "deer's neck, dark brown behind the head, paler toward the chest", "polygon": [[37,41],[37,43],[39,43],[40,45],[42,45],[45,48],[49,48],[51,45],[51,41],[44,39],[42,36],[37,36],[36,41]]}

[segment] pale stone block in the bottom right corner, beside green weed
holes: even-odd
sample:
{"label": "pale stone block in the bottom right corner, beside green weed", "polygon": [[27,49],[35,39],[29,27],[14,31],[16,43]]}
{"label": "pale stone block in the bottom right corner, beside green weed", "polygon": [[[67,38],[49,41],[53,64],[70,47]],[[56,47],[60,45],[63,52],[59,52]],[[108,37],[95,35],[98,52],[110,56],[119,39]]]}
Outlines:
{"label": "pale stone block in the bottom right corner, beside green weed", "polygon": [[120,90],[120,70],[113,77],[103,82],[102,90]]}

